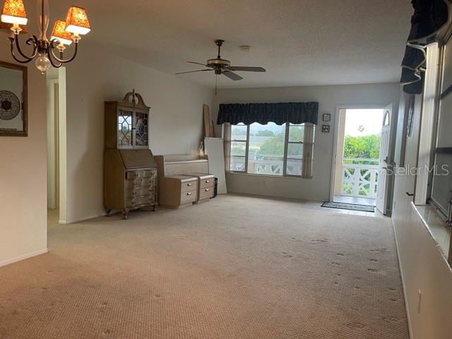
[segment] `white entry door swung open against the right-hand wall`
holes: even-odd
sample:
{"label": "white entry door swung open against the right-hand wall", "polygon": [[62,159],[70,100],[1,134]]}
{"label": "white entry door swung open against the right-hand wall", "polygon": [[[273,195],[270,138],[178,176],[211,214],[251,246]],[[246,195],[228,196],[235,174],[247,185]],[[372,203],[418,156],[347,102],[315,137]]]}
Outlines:
{"label": "white entry door swung open against the right-hand wall", "polygon": [[389,157],[389,142],[391,138],[393,105],[384,108],[383,126],[381,128],[381,146],[379,159],[379,180],[376,189],[376,208],[381,213],[386,213],[386,203],[388,201],[388,166],[391,166]]}

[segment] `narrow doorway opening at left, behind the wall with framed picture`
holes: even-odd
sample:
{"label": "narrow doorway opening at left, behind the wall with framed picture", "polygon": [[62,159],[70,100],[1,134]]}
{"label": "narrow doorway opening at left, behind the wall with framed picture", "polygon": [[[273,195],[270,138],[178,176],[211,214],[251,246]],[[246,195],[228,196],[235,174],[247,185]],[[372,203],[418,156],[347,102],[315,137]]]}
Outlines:
{"label": "narrow doorway opening at left, behind the wall with framed picture", "polygon": [[47,226],[66,220],[66,70],[50,69],[47,81]]}

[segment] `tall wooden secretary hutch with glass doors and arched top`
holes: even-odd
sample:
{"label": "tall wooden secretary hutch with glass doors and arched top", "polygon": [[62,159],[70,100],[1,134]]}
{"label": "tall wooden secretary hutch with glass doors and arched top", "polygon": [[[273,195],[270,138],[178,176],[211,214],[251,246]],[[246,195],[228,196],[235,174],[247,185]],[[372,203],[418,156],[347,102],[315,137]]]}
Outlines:
{"label": "tall wooden secretary hutch with glass doors and arched top", "polygon": [[104,205],[124,219],[137,208],[157,209],[157,163],[148,145],[149,111],[138,93],[105,102]]}

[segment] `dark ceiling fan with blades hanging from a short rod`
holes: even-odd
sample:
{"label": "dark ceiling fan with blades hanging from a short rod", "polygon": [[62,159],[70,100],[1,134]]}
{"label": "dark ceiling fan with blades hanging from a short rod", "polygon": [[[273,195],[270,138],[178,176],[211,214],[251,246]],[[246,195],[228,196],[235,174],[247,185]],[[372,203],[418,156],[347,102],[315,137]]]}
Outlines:
{"label": "dark ceiling fan with blades hanging from a short rod", "polygon": [[239,81],[243,78],[233,71],[244,71],[244,72],[265,72],[266,69],[262,67],[244,67],[244,66],[231,66],[231,62],[229,60],[221,59],[220,52],[222,44],[225,40],[215,40],[215,44],[218,46],[218,57],[215,59],[208,59],[207,64],[200,64],[194,61],[187,61],[189,64],[206,66],[208,69],[199,69],[198,71],[188,71],[176,74],[186,74],[186,73],[196,73],[196,72],[206,72],[206,71],[214,71],[217,75],[227,76],[233,81]]}

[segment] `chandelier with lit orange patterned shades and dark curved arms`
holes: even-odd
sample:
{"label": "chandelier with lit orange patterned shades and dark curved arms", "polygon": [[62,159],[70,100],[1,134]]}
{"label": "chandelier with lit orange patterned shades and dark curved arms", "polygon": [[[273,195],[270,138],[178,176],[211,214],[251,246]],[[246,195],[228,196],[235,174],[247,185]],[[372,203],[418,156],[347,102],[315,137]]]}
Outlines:
{"label": "chandelier with lit orange patterned shades and dark curved arms", "polygon": [[[5,0],[3,11],[1,12],[1,22],[11,25],[11,54],[20,64],[28,64],[36,58],[36,67],[45,74],[51,66],[61,67],[63,64],[73,61],[77,56],[78,42],[81,35],[90,32],[90,22],[85,8],[72,6],[69,8],[66,21],[57,20],[54,24],[52,37],[47,39],[47,29],[49,28],[49,3],[48,0],[37,0],[37,15],[40,35],[32,35],[25,44],[32,46],[32,52],[25,54],[20,47],[19,35],[27,25],[27,13],[23,0]],[[64,59],[65,45],[75,44],[73,56]],[[17,49],[17,53],[15,52]]]}

